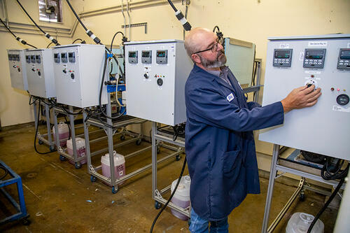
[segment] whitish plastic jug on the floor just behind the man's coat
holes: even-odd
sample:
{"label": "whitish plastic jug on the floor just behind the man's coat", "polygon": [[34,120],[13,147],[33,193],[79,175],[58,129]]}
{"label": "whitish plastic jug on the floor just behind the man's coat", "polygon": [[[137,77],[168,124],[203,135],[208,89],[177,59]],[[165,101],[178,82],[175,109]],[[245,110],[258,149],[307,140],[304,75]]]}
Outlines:
{"label": "whitish plastic jug on the floor just behind the man's coat", "polygon": [[[178,179],[172,182],[172,192],[174,191],[177,181]],[[176,206],[180,206],[183,209],[188,208],[188,206],[190,206],[190,184],[190,176],[181,177],[181,181],[175,191],[174,196],[172,197],[171,202],[176,204]],[[171,209],[171,211],[176,218],[180,218],[181,220],[188,220],[188,217],[183,215],[179,211],[175,211],[173,209]]]}

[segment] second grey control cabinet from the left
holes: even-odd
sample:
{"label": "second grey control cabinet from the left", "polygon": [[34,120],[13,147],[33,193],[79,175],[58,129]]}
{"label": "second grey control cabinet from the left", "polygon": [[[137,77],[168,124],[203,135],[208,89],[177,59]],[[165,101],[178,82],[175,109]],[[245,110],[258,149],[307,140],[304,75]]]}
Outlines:
{"label": "second grey control cabinet from the left", "polygon": [[29,94],[36,97],[56,97],[52,49],[25,50]]}

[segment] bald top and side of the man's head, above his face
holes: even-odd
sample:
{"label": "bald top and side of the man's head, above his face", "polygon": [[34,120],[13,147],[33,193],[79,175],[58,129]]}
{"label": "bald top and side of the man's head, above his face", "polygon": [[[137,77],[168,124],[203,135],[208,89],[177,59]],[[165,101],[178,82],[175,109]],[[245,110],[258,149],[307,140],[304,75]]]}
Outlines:
{"label": "bald top and side of the man's head, above his face", "polygon": [[204,38],[208,38],[213,34],[214,32],[203,27],[196,27],[195,29],[192,29],[185,38],[185,49],[188,56],[191,57],[193,53],[204,49],[206,46],[203,44],[203,41],[205,41]]}

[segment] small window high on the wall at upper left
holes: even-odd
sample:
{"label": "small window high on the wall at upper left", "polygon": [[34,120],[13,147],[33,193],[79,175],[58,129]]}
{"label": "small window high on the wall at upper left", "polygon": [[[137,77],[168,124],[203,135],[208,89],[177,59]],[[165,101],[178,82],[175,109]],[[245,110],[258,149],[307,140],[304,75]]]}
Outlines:
{"label": "small window high on the wall at upper left", "polygon": [[39,20],[62,22],[62,0],[38,0]]}

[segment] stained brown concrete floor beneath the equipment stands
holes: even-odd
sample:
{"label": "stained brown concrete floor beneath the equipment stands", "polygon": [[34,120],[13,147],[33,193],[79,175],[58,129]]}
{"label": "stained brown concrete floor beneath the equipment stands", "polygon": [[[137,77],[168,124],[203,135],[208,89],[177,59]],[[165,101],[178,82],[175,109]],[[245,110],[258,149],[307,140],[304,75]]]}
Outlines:
{"label": "stained brown concrete floor beneath the equipment stands", "polygon": [[[41,132],[44,129],[41,126]],[[56,152],[38,155],[34,151],[33,141],[34,127],[31,124],[6,127],[0,132],[0,160],[22,177],[31,220],[28,226],[20,222],[1,225],[0,232],[149,232],[158,213],[151,195],[151,169],[126,181],[118,193],[112,194],[107,185],[90,181],[86,164],[76,169],[69,162],[61,162]],[[148,145],[143,142],[138,147],[132,143],[117,151],[126,154]],[[48,151],[47,146],[37,148],[42,152]],[[162,149],[159,157],[166,153],[167,150]],[[93,159],[98,163],[100,157],[95,156]],[[127,160],[127,172],[148,163],[151,163],[151,151]],[[158,166],[159,188],[165,188],[179,176],[182,163],[183,156],[179,162],[170,159]],[[260,184],[261,194],[248,195],[230,214],[230,232],[261,231],[268,179],[260,178]],[[270,221],[294,192],[293,185],[276,183]],[[15,187],[10,186],[6,190],[15,195]],[[5,201],[0,195],[0,218],[11,211]],[[274,232],[285,232],[288,218],[295,212],[316,215],[323,202],[324,196],[306,192],[305,201],[295,202]],[[328,208],[321,216],[325,233],[332,232],[336,215],[337,209]],[[188,232],[188,223],[175,218],[166,209],[153,232]]]}

